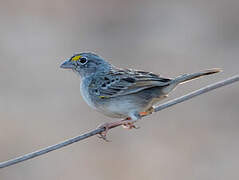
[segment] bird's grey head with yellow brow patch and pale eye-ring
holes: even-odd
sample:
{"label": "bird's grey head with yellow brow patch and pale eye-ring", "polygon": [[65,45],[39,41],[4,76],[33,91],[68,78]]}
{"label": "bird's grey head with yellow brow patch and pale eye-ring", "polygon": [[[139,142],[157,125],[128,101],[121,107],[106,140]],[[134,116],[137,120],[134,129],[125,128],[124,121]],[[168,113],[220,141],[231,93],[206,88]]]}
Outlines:
{"label": "bird's grey head with yellow brow patch and pale eye-ring", "polygon": [[81,77],[87,77],[95,73],[106,72],[111,68],[111,65],[96,54],[79,53],[63,62],[60,67],[71,69],[79,73]]}

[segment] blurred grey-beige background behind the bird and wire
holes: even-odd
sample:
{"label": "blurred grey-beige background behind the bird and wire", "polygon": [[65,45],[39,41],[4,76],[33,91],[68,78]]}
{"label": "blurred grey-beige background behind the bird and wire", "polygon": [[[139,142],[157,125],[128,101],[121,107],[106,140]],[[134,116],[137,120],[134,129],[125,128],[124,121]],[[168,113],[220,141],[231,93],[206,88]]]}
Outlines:
{"label": "blurred grey-beige background behind the bird and wire", "polygon": [[[178,97],[239,72],[238,0],[0,0],[0,161],[112,121],[61,70],[93,51],[120,67],[166,77],[220,67]],[[169,99],[170,99],[169,98]],[[239,179],[239,85],[0,170],[1,180]]]}

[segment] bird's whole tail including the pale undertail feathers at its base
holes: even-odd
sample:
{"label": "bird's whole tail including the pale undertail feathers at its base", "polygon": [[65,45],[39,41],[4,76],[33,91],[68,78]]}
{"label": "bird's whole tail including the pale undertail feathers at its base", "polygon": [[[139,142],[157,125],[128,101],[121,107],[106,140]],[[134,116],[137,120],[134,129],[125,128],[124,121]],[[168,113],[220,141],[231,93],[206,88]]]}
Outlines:
{"label": "bird's whole tail including the pale undertail feathers at its base", "polygon": [[178,76],[175,79],[172,79],[171,81],[168,82],[168,86],[165,86],[165,88],[163,88],[163,93],[168,94],[178,84],[182,84],[182,83],[191,81],[191,80],[199,78],[201,76],[206,76],[206,75],[211,75],[211,74],[214,74],[214,73],[218,73],[220,71],[221,71],[221,69],[215,68],[215,69],[209,69],[209,70],[201,71],[201,72],[198,72],[198,73],[184,74],[184,75]]}

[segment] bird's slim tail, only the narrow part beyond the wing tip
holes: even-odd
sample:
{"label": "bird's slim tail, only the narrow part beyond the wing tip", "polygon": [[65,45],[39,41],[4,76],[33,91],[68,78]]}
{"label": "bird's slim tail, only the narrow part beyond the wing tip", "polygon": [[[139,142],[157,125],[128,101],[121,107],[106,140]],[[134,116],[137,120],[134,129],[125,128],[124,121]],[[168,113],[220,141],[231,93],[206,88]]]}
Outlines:
{"label": "bird's slim tail, only the narrow part beyond the wing tip", "polygon": [[173,81],[176,84],[182,84],[182,83],[191,81],[193,79],[199,78],[201,76],[215,74],[215,73],[218,73],[220,71],[221,71],[221,69],[215,68],[215,69],[208,69],[208,70],[205,70],[205,71],[201,71],[201,72],[198,72],[198,73],[184,74],[184,75],[176,77]]}

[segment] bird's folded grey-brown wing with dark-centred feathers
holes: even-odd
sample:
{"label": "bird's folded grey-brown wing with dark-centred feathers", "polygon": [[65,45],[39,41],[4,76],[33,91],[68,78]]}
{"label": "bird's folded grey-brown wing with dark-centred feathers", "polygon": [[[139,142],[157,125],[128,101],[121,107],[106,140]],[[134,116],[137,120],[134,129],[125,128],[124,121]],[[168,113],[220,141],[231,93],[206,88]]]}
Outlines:
{"label": "bird's folded grey-brown wing with dark-centred feathers", "polygon": [[170,81],[151,72],[114,68],[107,74],[97,75],[90,86],[100,98],[111,98],[166,86]]}

